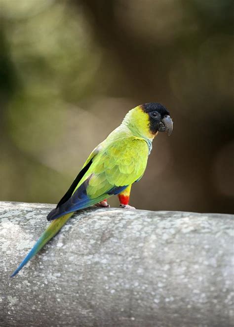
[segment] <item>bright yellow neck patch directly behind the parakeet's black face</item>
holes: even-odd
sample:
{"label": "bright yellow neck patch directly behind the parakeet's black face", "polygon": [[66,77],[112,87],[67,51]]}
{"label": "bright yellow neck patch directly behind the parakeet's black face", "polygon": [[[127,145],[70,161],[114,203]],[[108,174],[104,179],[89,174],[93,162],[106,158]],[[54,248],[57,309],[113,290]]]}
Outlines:
{"label": "bright yellow neck patch directly behind the parakeet's black face", "polygon": [[146,130],[145,126],[148,124],[142,121],[142,119],[145,119],[145,117],[141,117],[141,113],[136,109],[137,108],[134,108],[126,114],[121,125],[127,127],[132,135],[143,138],[147,142],[150,154],[152,150],[152,141],[155,135],[150,133],[148,128]]}

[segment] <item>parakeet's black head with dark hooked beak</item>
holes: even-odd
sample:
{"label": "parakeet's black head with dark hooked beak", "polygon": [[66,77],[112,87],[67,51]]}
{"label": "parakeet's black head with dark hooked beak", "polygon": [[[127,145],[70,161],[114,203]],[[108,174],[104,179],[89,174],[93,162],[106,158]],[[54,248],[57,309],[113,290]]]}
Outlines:
{"label": "parakeet's black head with dark hooked beak", "polygon": [[141,105],[143,111],[149,116],[149,127],[153,134],[168,131],[170,135],[173,129],[169,111],[160,103],[150,102]]}

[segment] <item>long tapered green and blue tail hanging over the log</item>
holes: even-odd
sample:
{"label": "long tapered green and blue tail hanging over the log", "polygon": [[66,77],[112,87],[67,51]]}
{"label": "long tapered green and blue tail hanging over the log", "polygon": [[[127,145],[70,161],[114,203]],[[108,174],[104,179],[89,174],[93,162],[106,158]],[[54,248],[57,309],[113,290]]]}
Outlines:
{"label": "long tapered green and blue tail hanging over the log", "polygon": [[18,272],[26,265],[26,263],[34,257],[39,250],[46,245],[46,243],[49,242],[49,240],[54,237],[59,230],[63,227],[63,225],[66,223],[66,221],[74,214],[74,212],[65,214],[64,216],[55,219],[51,222],[49,227],[44,231],[44,233],[39,238],[38,242],[34,245],[34,247],[29,251],[29,253],[26,255],[24,260],[21,262],[19,267],[13,272],[13,274],[10,277],[14,277],[18,274]]}

